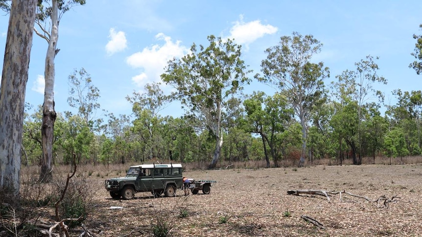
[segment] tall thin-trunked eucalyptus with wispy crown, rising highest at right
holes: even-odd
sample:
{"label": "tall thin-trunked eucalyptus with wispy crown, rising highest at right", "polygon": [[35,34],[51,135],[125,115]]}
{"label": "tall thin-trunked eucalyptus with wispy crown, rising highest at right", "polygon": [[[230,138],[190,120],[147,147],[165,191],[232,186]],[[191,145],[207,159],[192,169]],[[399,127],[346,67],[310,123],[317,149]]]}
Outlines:
{"label": "tall thin-trunked eucalyptus with wispy crown, rising highest at right", "polygon": [[[376,57],[375,59],[378,59]],[[378,65],[375,63],[373,56],[367,56],[365,60],[360,60],[355,63],[355,70],[345,70],[342,74],[337,75],[337,82],[333,83],[334,93],[337,98],[348,98],[348,100],[354,101],[357,106],[356,117],[357,130],[356,138],[353,139],[352,154],[353,164],[360,165],[362,162],[361,149],[363,145],[363,132],[361,129],[362,121],[365,119],[364,109],[369,103],[375,103],[374,100],[383,102],[384,95],[380,90],[374,88],[375,83],[387,84],[387,80],[377,74]],[[342,103],[342,102],[340,102]],[[350,134],[348,134],[350,135]],[[354,147],[356,146],[356,147]],[[359,156],[356,157],[356,152],[359,152]]]}

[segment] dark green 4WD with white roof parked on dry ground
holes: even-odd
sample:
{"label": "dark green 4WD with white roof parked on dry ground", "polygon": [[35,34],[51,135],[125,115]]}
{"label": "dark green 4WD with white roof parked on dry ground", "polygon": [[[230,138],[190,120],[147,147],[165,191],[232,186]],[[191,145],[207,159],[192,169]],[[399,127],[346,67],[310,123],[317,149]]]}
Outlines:
{"label": "dark green 4WD with white roof parked on dry ground", "polygon": [[151,192],[154,197],[163,193],[176,196],[176,189],[182,187],[181,164],[148,164],[131,166],[126,177],[112,178],[105,181],[105,188],[110,196],[118,199],[131,199],[135,193]]}

